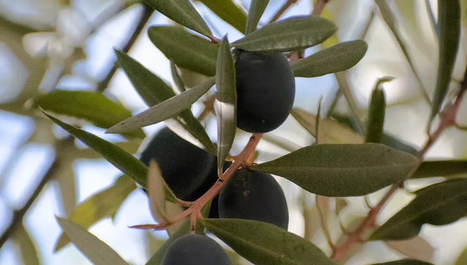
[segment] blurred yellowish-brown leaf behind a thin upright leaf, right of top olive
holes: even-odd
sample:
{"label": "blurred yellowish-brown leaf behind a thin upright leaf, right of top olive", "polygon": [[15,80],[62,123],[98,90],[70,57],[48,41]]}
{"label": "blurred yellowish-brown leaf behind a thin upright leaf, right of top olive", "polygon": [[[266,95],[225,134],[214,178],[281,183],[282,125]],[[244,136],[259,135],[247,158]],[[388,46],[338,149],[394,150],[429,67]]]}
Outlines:
{"label": "blurred yellowish-brown leaf behind a thin upright leaf, right of top olive", "polygon": [[[315,115],[300,108],[293,108],[290,114],[292,114],[300,125],[313,137],[316,137]],[[360,134],[332,119],[320,119],[319,132],[319,143],[321,144],[363,144],[365,142]]]}

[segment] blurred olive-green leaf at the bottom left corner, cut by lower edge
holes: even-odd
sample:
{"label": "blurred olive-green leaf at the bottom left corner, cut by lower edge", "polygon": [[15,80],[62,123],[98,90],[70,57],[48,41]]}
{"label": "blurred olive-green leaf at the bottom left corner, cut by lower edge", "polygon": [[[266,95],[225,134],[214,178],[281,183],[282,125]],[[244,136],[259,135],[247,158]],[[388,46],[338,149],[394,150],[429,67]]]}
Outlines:
{"label": "blurred olive-green leaf at the bottom left corner, cut by lower edge", "polygon": [[36,245],[32,241],[31,236],[22,224],[18,225],[13,232],[13,241],[18,244],[21,253],[23,264],[40,265],[39,255]]}

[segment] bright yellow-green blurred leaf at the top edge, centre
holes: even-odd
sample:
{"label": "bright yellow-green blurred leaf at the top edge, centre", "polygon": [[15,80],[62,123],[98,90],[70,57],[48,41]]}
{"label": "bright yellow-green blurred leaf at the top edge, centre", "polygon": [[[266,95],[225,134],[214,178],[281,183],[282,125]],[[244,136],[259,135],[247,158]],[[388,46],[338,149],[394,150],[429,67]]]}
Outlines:
{"label": "bright yellow-green blurred leaf at the top edge, centre", "polygon": [[241,33],[245,33],[246,14],[232,0],[199,0],[222,20],[231,24]]}

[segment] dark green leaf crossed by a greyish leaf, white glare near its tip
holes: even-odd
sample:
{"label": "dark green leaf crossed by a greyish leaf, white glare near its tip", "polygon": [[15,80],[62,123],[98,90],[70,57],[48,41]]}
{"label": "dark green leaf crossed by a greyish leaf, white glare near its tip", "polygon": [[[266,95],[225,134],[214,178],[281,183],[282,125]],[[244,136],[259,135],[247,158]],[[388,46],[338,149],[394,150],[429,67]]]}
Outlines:
{"label": "dark green leaf crossed by a greyish leaf, white glare near its tip", "polygon": [[[175,95],[165,82],[126,53],[116,51],[116,55],[118,63],[148,106],[154,106]],[[213,144],[203,125],[193,116],[191,110],[182,111],[165,122],[171,130],[186,141],[216,154],[216,145]]]}

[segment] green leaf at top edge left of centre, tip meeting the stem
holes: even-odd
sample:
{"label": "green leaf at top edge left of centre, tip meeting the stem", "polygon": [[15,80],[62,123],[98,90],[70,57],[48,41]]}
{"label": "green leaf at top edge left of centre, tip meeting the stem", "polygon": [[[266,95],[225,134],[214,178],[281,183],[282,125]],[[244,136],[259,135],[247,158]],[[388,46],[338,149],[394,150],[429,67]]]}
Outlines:
{"label": "green leaf at top edge left of centre, tip meeting the stem", "polygon": [[154,9],[173,21],[199,32],[203,35],[212,35],[208,25],[187,0],[145,0]]}

